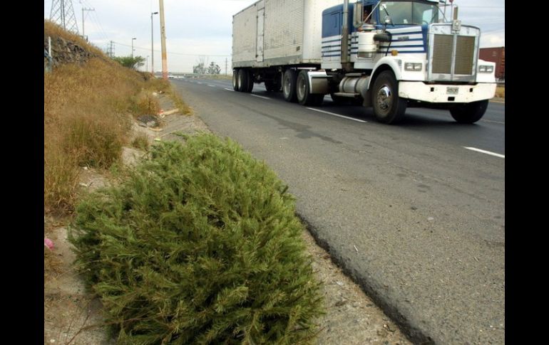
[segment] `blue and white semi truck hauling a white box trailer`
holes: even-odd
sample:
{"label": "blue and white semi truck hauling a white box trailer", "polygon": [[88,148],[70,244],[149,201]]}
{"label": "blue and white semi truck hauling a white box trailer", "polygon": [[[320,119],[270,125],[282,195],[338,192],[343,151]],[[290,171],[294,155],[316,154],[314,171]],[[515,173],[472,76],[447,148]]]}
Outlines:
{"label": "blue and white semi truck hauling a white box trailer", "polygon": [[407,107],[481,119],[495,63],[478,57],[481,30],[428,0],[259,0],[232,17],[232,85],[263,83],[287,102],[372,107],[399,122]]}

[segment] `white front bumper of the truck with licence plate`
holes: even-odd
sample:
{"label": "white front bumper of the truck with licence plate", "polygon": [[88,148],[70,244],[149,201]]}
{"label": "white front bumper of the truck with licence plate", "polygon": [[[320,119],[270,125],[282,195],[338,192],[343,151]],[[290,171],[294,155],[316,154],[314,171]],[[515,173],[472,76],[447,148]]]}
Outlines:
{"label": "white front bumper of the truck with licence plate", "polygon": [[431,103],[469,103],[489,100],[496,95],[496,83],[476,85],[399,82],[399,97]]}

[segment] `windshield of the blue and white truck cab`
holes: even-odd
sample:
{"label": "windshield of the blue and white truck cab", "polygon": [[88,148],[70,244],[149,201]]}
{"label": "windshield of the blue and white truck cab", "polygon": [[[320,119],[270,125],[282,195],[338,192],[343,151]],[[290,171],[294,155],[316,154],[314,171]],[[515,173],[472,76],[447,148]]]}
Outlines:
{"label": "windshield of the blue and white truck cab", "polygon": [[379,14],[381,18],[389,14],[392,24],[421,25],[438,22],[437,6],[422,2],[383,1],[379,6]]}

